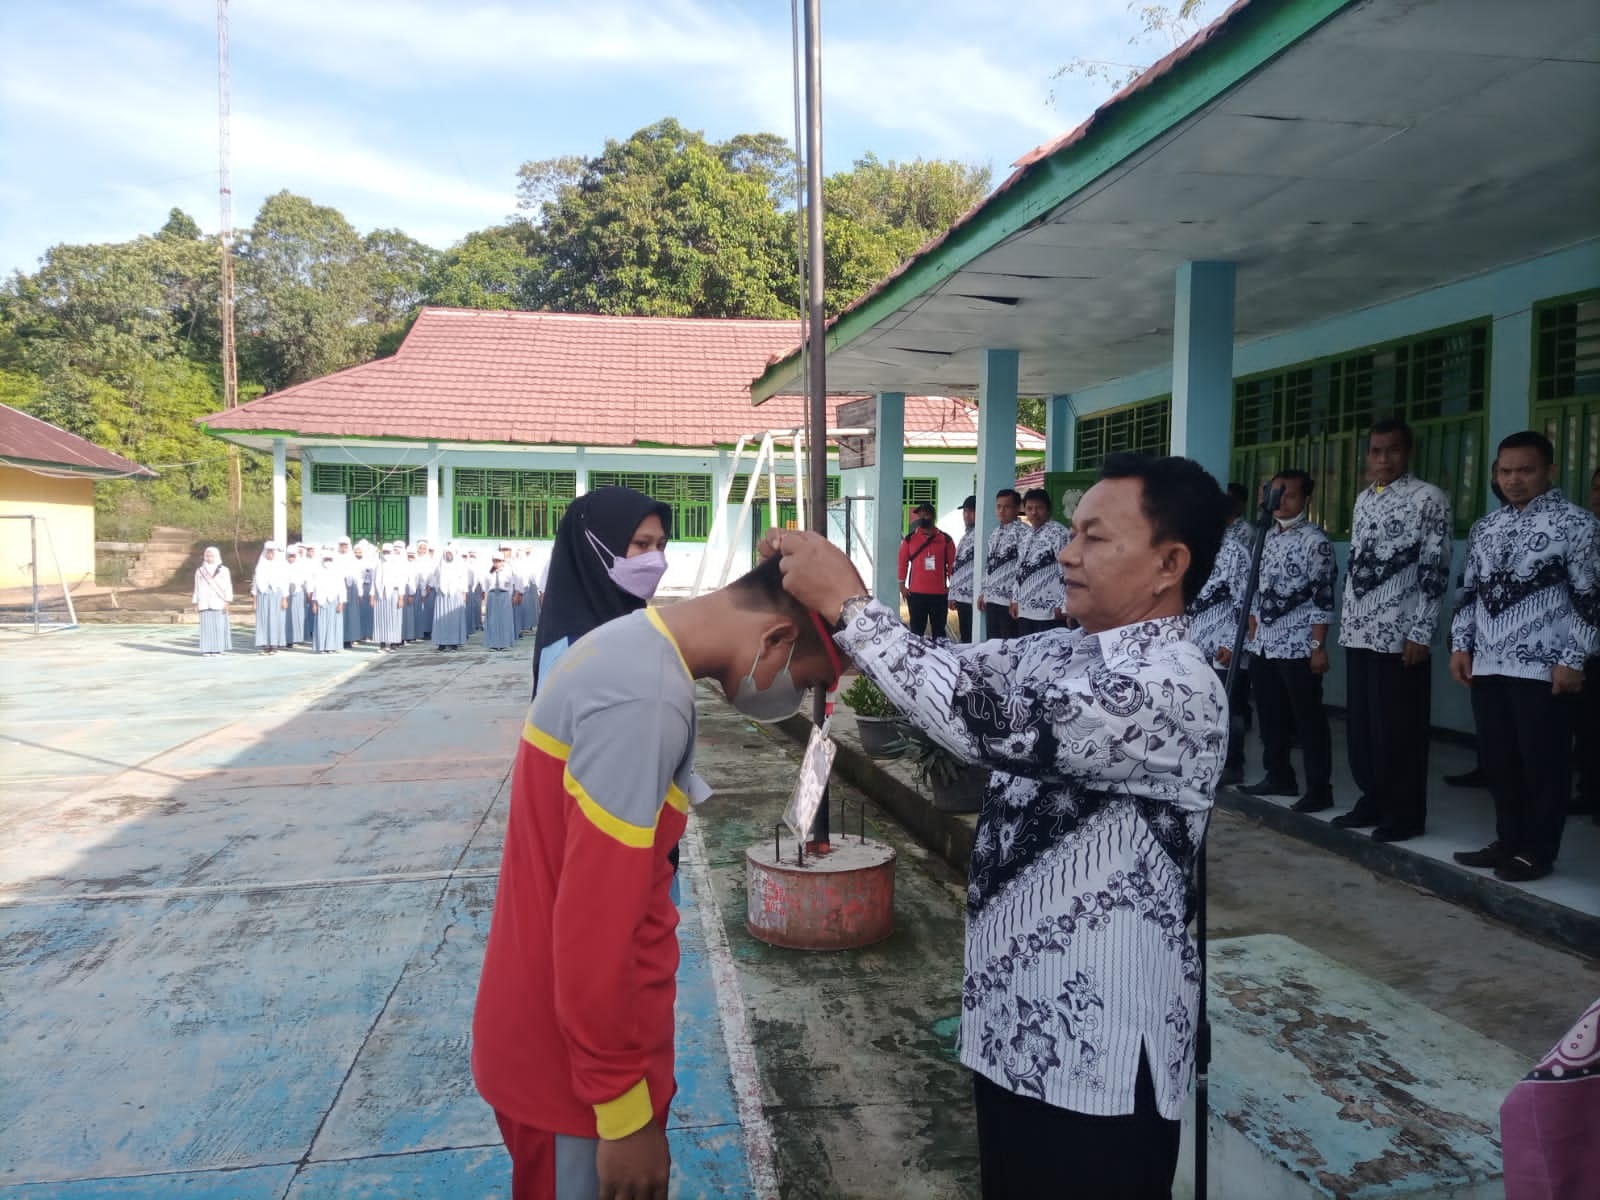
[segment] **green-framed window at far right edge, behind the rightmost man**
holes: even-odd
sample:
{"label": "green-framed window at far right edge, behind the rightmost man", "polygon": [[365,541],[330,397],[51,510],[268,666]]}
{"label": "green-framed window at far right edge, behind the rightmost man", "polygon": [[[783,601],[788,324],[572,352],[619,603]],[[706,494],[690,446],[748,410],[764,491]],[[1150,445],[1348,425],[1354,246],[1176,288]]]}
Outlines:
{"label": "green-framed window at far right edge, behind the rightmost man", "polygon": [[1600,469],[1600,291],[1533,309],[1530,422],[1555,446],[1555,483],[1589,502]]}

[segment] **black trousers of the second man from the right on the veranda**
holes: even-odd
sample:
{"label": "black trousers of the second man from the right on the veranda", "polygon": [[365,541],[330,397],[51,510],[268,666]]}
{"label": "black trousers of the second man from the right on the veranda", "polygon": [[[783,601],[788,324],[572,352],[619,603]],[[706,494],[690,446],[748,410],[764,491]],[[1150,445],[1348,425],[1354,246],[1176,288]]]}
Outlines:
{"label": "black trousers of the second man from the right on the veranda", "polygon": [[1350,774],[1368,805],[1362,816],[1422,832],[1427,824],[1427,744],[1434,669],[1400,654],[1346,650]]}

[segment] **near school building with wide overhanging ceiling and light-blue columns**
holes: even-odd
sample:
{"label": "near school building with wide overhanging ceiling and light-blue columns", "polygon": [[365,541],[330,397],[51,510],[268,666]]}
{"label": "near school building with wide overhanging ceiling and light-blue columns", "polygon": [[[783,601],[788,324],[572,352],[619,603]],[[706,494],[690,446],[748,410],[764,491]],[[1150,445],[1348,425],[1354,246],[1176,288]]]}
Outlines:
{"label": "near school building with wide overhanging ceiling and light-blue columns", "polygon": [[[829,382],[878,397],[880,440],[907,394],[976,395],[981,494],[1037,395],[1046,472],[1114,450],[1245,483],[1298,466],[1336,541],[1365,429],[1402,416],[1459,566],[1502,437],[1549,434],[1578,502],[1600,466],[1595,10],[1242,0],[842,312]],[[798,387],[790,346],[752,395]],[[1434,720],[1470,730],[1443,651],[1445,630]]]}

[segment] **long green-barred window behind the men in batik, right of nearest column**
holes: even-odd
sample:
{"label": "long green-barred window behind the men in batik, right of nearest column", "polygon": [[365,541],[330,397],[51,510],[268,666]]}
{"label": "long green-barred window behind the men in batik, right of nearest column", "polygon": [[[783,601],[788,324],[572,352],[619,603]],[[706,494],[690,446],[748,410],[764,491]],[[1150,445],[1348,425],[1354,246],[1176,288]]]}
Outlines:
{"label": "long green-barred window behind the men in batik, right of nearest column", "polygon": [[1349,539],[1366,430],[1402,418],[1416,435],[1413,474],[1443,490],[1466,536],[1483,515],[1488,358],[1490,322],[1478,320],[1237,379],[1232,477],[1253,486],[1309,470],[1310,518]]}

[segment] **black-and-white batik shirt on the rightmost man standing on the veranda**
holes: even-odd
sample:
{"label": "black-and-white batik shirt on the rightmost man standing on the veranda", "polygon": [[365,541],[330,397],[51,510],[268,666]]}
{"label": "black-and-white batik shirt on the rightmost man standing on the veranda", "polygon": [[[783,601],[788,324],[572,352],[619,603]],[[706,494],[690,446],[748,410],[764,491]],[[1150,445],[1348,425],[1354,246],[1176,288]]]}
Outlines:
{"label": "black-and-white batik shirt on the rightmost man standing on the veranda", "polygon": [[[1474,675],[1550,678],[1600,653],[1600,522],[1560,488],[1480,518],[1461,566],[1451,650]],[[1589,686],[1586,683],[1584,686]]]}

